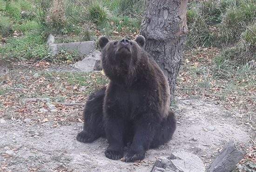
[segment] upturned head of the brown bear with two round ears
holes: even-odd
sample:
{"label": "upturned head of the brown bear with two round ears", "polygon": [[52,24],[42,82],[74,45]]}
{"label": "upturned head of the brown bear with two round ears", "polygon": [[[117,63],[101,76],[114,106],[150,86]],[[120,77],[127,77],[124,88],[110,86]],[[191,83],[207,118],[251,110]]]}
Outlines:
{"label": "upturned head of the brown bear with two round ears", "polygon": [[145,38],[138,36],[135,40],[108,40],[101,36],[101,64],[109,79],[120,84],[128,84],[136,75],[141,62],[141,51]]}

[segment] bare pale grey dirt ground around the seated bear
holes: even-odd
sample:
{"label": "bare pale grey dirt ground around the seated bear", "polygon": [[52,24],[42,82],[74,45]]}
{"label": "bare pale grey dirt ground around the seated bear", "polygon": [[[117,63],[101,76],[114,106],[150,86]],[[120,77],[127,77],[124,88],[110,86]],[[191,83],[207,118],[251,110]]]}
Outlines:
{"label": "bare pale grey dirt ground around the seated bear", "polygon": [[252,129],[239,115],[203,99],[176,98],[177,129],[168,144],[149,150],[142,162],[124,163],[107,159],[106,139],[94,143],[77,142],[81,122],[53,127],[20,119],[0,122],[0,164],[3,171],[13,172],[147,172],[155,159],[183,150],[198,155],[205,165],[214,159],[229,139],[242,148],[252,139]]}

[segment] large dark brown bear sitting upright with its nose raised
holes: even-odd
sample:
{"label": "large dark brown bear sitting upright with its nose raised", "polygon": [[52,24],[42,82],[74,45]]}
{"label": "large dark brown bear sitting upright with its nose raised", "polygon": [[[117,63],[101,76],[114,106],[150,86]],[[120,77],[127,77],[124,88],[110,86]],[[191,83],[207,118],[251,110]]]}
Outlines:
{"label": "large dark brown bear sitting upright with its nose raised", "polygon": [[152,57],[142,47],[145,38],[109,41],[102,36],[102,68],[107,87],[89,96],[84,109],[84,129],[77,140],[93,142],[106,137],[109,159],[144,159],[145,152],[168,142],[175,132],[174,113],[169,111],[168,82]]}

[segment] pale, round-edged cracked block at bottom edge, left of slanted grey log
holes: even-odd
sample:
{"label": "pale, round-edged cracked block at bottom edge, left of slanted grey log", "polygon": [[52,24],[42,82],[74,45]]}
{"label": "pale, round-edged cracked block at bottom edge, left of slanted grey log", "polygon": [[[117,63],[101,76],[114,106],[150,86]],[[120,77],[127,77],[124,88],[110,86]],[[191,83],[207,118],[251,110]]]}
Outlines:
{"label": "pale, round-edged cracked block at bottom edge, left of slanted grey log", "polygon": [[202,160],[190,152],[173,152],[156,160],[151,172],[205,172]]}

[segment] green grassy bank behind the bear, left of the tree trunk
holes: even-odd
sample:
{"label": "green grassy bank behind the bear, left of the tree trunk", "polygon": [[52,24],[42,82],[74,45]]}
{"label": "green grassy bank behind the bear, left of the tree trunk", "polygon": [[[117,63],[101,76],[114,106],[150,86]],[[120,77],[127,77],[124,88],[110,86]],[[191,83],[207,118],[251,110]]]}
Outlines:
{"label": "green grassy bank behind the bear, left of the tree trunk", "polygon": [[[7,38],[0,55],[20,60],[38,60],[48,56],[46,39],[49,33],[60,38],[57,42],[97,40],[100,35],[116,38],[138,33],[141,9],[144,8],[142,0],[0,0],[0,5],[0,34]],[[19,33],[18,38],[12,36],[14,31]],[[62,58],[64,55],[68,57]],[[62,53],[57,59],[66,61],[70,57]]]}

